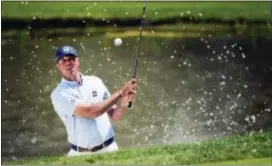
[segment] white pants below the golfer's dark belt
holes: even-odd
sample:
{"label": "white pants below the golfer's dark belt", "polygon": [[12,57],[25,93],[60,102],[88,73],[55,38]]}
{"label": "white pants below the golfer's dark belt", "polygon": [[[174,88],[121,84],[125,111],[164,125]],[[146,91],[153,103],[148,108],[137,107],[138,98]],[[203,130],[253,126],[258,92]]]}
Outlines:
{"label": "white pants below the golfer's dark belt", "polygon": [[68,157],[71,157],[71,156],[81,156],[81,155],[92,155],[92,154],[100,154],[100,153],[109,153],[109,152],[115,152],[115,151],[118,151],[119,148],[118,148],[118,145],[117,143],[114,141],[113,143],[111,143],[109,146],[107,147],[104,147],[103,149],[101,150],[98,150],[96,152],[78,152],[78,151],[75,151],[74,149],[71,149],[67,156]]}

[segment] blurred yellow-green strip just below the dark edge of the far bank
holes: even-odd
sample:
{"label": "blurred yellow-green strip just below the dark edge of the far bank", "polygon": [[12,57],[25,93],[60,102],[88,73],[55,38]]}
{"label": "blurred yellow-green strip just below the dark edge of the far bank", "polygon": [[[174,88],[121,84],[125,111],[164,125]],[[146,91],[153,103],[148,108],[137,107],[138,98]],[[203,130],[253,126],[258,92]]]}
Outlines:
{"label": "blurred yellow-green strip just below the dark edge of the far bank", "polygon": [[[220,24],[173,24],[173,25],[158,25],[145,26],[142,32],[143,37],[153,38],[196,38],[212,36],[237,36],[242,35],[246,37],[253,37],[257,34],[259,36],[272,37],[272,25],[245,25],[236,24],[235,26],[225,26]],[[138,37],[139,27],[86,27],[81,28],[47,28],[46,31],[35,29],[24,29],[18,31],[17,29],[10,29],[2,31],[2,37],[8,38],[11,36],[95,36],[103,35],[106,38],[112,39],[116,37]]]}

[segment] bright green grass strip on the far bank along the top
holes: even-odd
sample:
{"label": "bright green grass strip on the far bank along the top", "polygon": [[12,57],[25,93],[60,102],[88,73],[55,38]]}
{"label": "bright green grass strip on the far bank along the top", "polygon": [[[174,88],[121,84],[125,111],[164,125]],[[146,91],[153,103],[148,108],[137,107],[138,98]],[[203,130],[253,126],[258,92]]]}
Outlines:
{"label": "bright green grass strip on the far bank along the top", "polygon": [[[2,2],[5,18],[140,18],[143,2]],[[272,20],[272,2],[148,2],[146,17],[158,20],[180,16]]]}

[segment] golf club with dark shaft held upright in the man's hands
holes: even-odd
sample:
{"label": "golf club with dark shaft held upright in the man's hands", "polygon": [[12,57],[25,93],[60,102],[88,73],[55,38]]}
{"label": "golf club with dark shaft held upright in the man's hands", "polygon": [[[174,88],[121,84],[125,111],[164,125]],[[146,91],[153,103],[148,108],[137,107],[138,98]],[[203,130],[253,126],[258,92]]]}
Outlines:
{"label": "golf club with dark shaft held upright in the man's hands", "polygon": [[[135,58],[135,61],[134,61],[134,74],[133,74],[132,78],[136,78],[136,73],[137,73],[137,66],[138,66],[138,59],[139,59],[139,49],[140,49],[140,41],[141,41],[141,37],[142,37],[142,29],[143,29],[144,17],[145,17],[145,8],[146,8],[146,0],[144,0],[142,20],[141,20],[141,25],[140,25],[140,36],[138,38],[136,58]],[[132,102],[129,102],[128,108],[131,108],[131,107],[132,107]]]}

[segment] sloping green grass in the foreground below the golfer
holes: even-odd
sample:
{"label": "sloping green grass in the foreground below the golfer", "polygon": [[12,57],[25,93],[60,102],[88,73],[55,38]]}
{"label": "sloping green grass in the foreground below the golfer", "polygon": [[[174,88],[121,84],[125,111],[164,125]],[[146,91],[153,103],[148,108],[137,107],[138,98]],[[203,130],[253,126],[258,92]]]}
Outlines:
{"label": "sloping green grass in the foreground below the golfer", "polygon": [[[200,164],[248,163],[270,164],[272,132],[232,136],[191,144],[158,145],[121,149],[119,152],[92,156],[42,157],[4,162],[4,164]],[[245,160],[246,159],[246,160]],[[242,161],[243,160],[243,161]]]}

